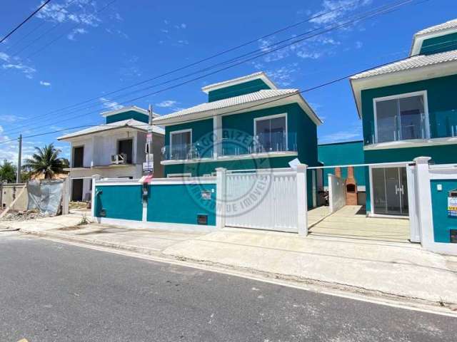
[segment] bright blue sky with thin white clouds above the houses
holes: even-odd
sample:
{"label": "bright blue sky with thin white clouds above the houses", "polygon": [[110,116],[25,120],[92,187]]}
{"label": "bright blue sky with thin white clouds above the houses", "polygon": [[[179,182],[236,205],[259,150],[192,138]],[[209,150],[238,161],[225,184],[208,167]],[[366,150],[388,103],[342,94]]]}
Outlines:
{"label": "bright blue sky with thin white clouds above the houses", "polygon": [[[306,89],[408,55],[413,33],[454,19],[455,0],[403,6],[184,86],[129,101],[166,86],[124,93],[196,72],[293,35],[344,22],[391,3],[385,0],[140,1],[52,0],[44,11],[0,44],[0,142],[103,123],[99,113],[126,105],[166,114],[206,101],[200,88],[266,71],[280,88]],[[37,0],[2,1],[0,36],[39,6]],[[256,38],[323,11],[331,12],[263,40]],[[256,39],[250,46],[124,93],[107,93]],[[202,76],[204,73],[199,73]],[[196,77],[196,76],[194,76]],[[186,81],[185,78],[182,81]],[[168,86],[179,83],[175,81]],[[347,80],[303,94],[325,121],[319,142],[361,138],[361,122]],[[76,108],[59,110],[89,98]],[[50,113],[49,112],[54,112]],[[79,116],[78,118],[74,118]],[[62,133],[24,140],[24,155]],[[56,142],[65,155],[69,145]],[[0,144],[0,160],[16,160],[16,142]]]}

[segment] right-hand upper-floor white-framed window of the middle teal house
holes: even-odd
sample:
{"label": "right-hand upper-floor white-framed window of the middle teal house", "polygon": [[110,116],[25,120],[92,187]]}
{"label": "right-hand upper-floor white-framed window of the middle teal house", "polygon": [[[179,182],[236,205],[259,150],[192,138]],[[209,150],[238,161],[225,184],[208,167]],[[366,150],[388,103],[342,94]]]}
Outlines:
{"label": "right-hand upper-floor white-framed window of the middle teal house", "polygon": [[254,119],[256,152],[287,150],[287,115],[271,115]]}

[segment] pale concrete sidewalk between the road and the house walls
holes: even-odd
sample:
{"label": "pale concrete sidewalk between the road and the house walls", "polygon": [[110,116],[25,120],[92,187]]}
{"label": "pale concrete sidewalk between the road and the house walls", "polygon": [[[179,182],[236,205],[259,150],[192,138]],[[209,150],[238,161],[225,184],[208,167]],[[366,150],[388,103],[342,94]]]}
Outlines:
{"label": "pale concrete sidewalk between the road and the house walls", "polygon": [[[21,232],[185,259],[335,289],[457,304],[457,257],[426,252],[417,244],[378,242],[250,229],[209,234],[77,226],[81,214],[8,222]],[[1,235],[0,235],[1,238]]]}

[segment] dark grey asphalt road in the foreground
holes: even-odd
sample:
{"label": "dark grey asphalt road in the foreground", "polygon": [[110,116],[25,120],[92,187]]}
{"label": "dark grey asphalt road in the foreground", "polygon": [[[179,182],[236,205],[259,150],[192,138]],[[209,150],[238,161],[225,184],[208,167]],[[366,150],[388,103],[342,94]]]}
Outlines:
{"label": "dark grey asphalt road in the foreground", "polygon": [[0,341],[457,341],[457,318],[0,233]]}

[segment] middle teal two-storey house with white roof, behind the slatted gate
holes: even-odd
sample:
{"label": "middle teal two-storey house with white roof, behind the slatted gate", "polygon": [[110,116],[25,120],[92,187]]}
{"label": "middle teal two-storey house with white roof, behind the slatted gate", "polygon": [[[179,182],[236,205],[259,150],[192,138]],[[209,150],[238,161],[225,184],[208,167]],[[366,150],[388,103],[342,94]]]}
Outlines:
{"label": "middle teal two-storey house with white roof, behind the slatted gate", "polygon": [[[318,165],[314,110],[298,89],[278,89],[263,72],[202,88],[208,102],[155,118],[165,127],[165,177],[215,175],[216,167],[256,170]],[[316,170],[308,205],[316,205]]]}

